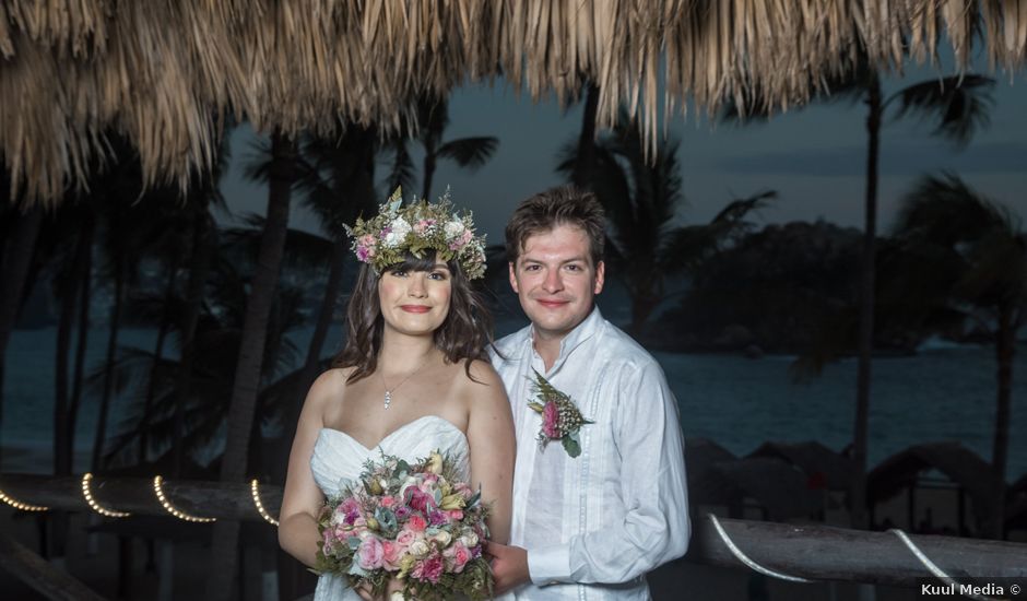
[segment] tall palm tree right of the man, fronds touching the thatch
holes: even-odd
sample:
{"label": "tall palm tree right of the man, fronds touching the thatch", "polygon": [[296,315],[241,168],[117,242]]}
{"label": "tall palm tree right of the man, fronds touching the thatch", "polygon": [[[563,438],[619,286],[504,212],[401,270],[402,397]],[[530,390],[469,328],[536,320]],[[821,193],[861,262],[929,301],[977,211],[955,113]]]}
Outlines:
{"label": "tall palm tree right of the man, fronds touching the thatch", "polygon": [[[853,420],[852,459],[853,480],[849,496],[852,525],[866,525],[866,439],[870,419],[871,356],[874,344],[874,290],[877,244],[877,170],[880,163],[881,127],[907,116],[916,116],[935,123],[932,134],[945,138],[959,146],[969,143],[973,133],[987,126],[988,107],[992,103],[994,80],[973,74],[949,75],[925,80],[885,96],[881,73],[867,60],[865,52],[849,63],[849,69],[829,78],[823,86],[828,95],[818,99],[860,101],[866,105],[866,184],[864,193],[863,250],[860,268],[860,300],[857,334],[855,416]],[[727,119],[745,115],[765,117],[758,98],[748,98],[744,105],[729,106]]]}

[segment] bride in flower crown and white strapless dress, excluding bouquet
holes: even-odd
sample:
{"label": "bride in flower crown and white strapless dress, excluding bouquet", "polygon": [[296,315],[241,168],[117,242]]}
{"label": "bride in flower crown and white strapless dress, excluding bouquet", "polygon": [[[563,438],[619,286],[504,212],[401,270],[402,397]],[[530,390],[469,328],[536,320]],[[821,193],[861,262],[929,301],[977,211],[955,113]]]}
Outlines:
{"label": "bride in flower crown and white strapless dress, excluding bouquet", "polygon": [[[449,453],[492,504],[492,540],[509,535],[514,423],[485,353],[489,320],[469,282],[484,273],[484,240],[448,198],[400,203],[393,195],[377,216],[347,228],[364,264],[346,346],[310,387],[293,440],[279,542],[311,567],[326,495],[381,452]],[[316,601],[359,598],[345,578],[318,579]]]}

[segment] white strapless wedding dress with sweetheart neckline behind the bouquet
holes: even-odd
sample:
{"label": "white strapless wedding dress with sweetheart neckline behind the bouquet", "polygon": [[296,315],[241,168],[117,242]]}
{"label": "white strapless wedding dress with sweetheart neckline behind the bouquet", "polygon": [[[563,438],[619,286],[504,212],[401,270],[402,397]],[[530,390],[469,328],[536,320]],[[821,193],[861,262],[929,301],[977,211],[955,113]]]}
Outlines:
{"label": "white strapless wedding dress with sweetheart neckline behind the bouquet", "polygon": [[[459,478],[467,481],[470,475],[468,438],[463,432],[448,420],[437,415],[425,415],[404,424],[368,449],[349,434],[331,428],[321,428],[310,469],[314,480],[326,496],[339,494],[346,483],[356,479],[368,459],[377,460],[381,453],[413,461],[439,450],[449,455],[457,464]],[[332,575],[318,578],[314,601],[350,601],[361,597],[349,588],[346,579]]]}

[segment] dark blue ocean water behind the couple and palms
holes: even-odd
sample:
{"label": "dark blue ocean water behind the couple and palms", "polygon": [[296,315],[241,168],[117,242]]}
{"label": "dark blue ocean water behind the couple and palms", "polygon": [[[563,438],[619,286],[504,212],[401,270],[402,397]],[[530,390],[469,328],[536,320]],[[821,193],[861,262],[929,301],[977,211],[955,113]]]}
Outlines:
{"label": "dark blue ocean water behind the couple and palms", "polygon": [[[509,332],[517,321],[499,323]],[[104,357],[106,331],[90,335],[87,372]],[[306,349],[309,330],[293,334]],[[126,329],[121,344],[152,349],[156,332]],[[169,351],[175,352],[173,341]],[[326,352],[340,344],[333,328]],[[54,363],[56,329],[19,330],[8,350],[3,396],[3,469],[46,472],[51,464]],[[764,441],[818,440],[840,450],[852,436],[855,360],[829,365],[808,384],[792,384],[788,367],[794,357],[769,355],[748,360],[727,354],[654,353],[677,397],[686,437],[706,437],[735,455]],[[1027,346],[1014,363],[1007,478],[1027,473]],[[957,440],[991,458],[995,414],[995,362],[991,347],[939,344],[916,356],[881,358],[873,365],[869,461],[873,467],[910,445]],[[86,467],[96,427],[97,398],[80,410],[76,469]],[[123,414],[125,399],[110,409],[113,432]],[[639,416],[639,419],[641,419]],[[13,449],[13,452],[8,450]]]}

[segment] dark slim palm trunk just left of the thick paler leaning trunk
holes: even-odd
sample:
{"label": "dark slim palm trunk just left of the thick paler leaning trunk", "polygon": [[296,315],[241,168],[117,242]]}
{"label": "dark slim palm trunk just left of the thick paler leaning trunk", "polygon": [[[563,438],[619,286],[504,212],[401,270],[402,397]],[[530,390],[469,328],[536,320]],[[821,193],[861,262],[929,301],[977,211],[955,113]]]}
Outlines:
{"label": "dark slim palm trunk just left of the thick paler leaning trunk", "polygon": [[200,308],[203,303],[203,287],[214,255],[214,232],[206,209],[198,209],[192,227],[192,255],[190,257],[189,283],[186,286],[185,314],[180,325],[181,337],[178,374],[175,382],[175,419],[173,427],[172,457],[174,474],[181,475],[182,438],[186,431],[186,404],[192,388],[192,365],[196,360],[193,345],[197,323],[200,321]]}

